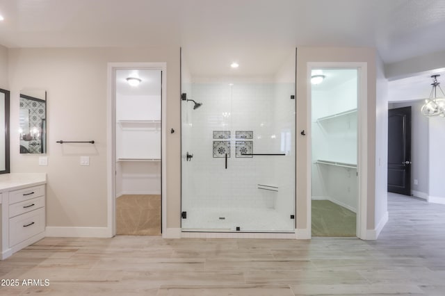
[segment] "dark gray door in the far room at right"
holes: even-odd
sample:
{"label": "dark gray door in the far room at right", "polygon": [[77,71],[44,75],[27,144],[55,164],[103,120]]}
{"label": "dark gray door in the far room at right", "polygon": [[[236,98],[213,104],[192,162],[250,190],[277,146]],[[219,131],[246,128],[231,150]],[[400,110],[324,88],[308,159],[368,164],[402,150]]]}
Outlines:
{"label": "dark gray door in the far room at right", "polygon": [[388,110],[388,191],[411,195],[411,106]]}

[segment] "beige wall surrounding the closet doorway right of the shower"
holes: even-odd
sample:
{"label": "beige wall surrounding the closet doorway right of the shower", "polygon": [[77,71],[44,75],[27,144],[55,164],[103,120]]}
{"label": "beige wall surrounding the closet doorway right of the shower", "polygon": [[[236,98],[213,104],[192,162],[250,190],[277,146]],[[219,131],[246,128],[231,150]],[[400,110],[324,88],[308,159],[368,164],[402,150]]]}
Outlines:
{"label": "beige wall surrounding the closet doorway right of the shower", "polygon": [[[310,176],[307,175],[307,160],[309,158],[310,134],[308,136],[299,135],[300,131],[307,131],[308,126],[308,92],[309,88],[309,63],[366,63],[366,105],[362,106],[366,110],[362,121],[362,135],[360,139],[362,143],[362,167],[366,167],[363,171],[362,179],[366,180],[360,184],[362,197],[366,200],[364,209],[360,215],[362,221],[360,223],[362,238],[375,239],[373,235],[376,229],[375,222],[375,199],[380,197],[375,195],[376,174],[382,170],[375,167],[375,148],[378,143],[375,138],[375,121],[376,121],[376,93],[375,93],[375,49],[369,48],[333,48],[333,47],[298,47],[297,54],[297,236],[302,238],[310,237]],[[366,144],[364,144],[366,143]],[[386,183],[386,181],[385,181]],[[366,227],[364,227],[366,225]],[[365,230],[366,229],[366,230]]]}

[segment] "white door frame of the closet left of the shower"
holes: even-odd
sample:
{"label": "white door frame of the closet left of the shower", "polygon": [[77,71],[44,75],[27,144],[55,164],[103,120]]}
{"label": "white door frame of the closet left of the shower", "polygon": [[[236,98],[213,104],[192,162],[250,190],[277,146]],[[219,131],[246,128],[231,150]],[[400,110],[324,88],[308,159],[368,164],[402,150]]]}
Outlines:
{"label": "white door frame of the closet left of the shower", "polygon": [[167,183],[166,183],[166,161],[165,155],[167,154],[166,145],[166,124],[167,124],[167,63],[108,63],[107,67],[107,223],[106,233],[108,237],[116,235],[116,192],[115,192],[115,72],[118,69],[143,69],[143,70],[161,70],[162,76],[162,93],[161,93],[161,233],[165,233],[165,227],[167,225]]}

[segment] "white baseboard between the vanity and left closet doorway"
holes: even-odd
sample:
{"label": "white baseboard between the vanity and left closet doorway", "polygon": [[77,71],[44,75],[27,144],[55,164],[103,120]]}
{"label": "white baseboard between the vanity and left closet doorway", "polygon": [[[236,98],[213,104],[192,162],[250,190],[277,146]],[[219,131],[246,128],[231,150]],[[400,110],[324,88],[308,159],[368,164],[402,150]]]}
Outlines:
{"label": "white baseboard between the vanity and left closet doorway", "polygon": [[108,227],[46,227],[46,236],[56,238],[111,238]]}

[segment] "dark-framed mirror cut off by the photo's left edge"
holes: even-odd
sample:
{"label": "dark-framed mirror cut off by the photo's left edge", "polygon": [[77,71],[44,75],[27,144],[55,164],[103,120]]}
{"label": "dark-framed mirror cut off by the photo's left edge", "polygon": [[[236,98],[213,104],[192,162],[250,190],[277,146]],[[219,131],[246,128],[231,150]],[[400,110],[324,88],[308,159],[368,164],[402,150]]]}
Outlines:
{"label": "dark-framed mirror cut off by the photo's left edge", "polygon": [[[9,90],[0,88],[0,174],[8,174],[9,166]],[[4,133],[4,137],[1,136]]]}

